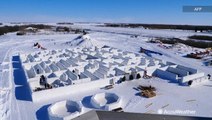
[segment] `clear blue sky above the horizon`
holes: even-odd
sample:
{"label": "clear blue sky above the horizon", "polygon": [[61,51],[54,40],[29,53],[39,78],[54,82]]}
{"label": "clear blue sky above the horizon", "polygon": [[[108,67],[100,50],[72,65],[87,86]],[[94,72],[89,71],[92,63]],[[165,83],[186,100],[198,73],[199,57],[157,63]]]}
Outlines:
{"label": "clear blue sky above the horizon", "polygon": [[0,0],[0,22],[132,22],[212,25],[212,13],[184,13],[212,0]]}

